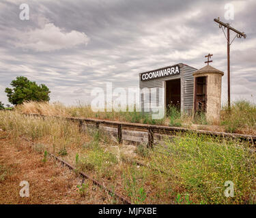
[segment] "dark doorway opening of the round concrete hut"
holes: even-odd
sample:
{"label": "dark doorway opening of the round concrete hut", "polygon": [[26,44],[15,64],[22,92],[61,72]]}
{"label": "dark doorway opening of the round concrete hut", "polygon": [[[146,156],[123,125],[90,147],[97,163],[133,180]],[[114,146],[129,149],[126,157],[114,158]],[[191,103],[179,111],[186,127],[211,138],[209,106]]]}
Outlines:
{"label": "dark doorway opening of the round concrete hut", "polygon": [[195,112],[206,112],[207,104],[207,76],[195,78]]}

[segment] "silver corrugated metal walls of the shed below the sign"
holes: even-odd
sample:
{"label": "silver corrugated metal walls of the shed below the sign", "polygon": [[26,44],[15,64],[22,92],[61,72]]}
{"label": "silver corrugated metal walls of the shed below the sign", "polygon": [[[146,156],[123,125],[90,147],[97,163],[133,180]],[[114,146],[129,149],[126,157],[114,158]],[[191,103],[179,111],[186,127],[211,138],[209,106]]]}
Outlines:
{"label": "silver corrugated metal walls of the shed below the sign", "polygon": [[[169,76],[165,78],[158,78],[153,80],[141,81],[141,74],[139,74],[139,88],[141,90],[140,103],[141,112],[152,112],[156,110],[158,106],[163,106],[162,109],[165,110],[165,89],[160,91],[160,88],[165,88],[165,81],[181,79],[181,111],[182,112],[192,112],[193,110],[193,87],[194,87],[194,77],[193,72],[197,69],[179,63],[180,74],[177,76]],[[147,89],[156,88],[156,96],[150,95]],[[145,99],[145,101],[143,101]],[[150,108],[150,102],[151,108]]]}

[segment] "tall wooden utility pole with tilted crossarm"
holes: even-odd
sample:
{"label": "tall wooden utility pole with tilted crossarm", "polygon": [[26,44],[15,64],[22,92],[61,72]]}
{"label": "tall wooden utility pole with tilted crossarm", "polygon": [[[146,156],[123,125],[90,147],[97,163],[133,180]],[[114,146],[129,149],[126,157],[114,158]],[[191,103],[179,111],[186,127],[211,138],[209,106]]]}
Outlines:
{"label": "tall wooden utility pole with tilted crossarm", "polygon": [[[230,109],[230,46],[233,42],[233,40],[235,40],[236,37],[238,38],[242,38],[242,36],[244,37],[244,39],[246,38],[246,34],[244,34],[244,32],[240,32],[236,29],[234,29],[233,27],[230,27],[229,26],[229,23],[224,23],[224,22],[221,22],[220,18],[218,19],[214,19],[215,22],[218,22],[218,25],[220,28],[224,29],[227,28],[227,36],[223,30],[223,33],[227,39],[227,104],[228,104],[228,107]],[[229,39],[229,31],[234,31],[236,34],[236,36],[233,38],[232,42],[230,43],[230,39]]]}

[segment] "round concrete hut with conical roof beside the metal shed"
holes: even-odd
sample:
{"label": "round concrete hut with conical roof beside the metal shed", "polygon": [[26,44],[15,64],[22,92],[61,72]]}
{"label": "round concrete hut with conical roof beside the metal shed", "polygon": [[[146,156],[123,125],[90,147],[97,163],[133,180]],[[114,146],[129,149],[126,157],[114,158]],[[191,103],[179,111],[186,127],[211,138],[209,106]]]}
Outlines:
{"label": "round concrete hut with conical roof beside the metal shed", "polygon": [[218,123],[221,119],[221,82],[224,73],[210,65],[198,69],[194,76],[193,117],[205,113],[207,121]]}

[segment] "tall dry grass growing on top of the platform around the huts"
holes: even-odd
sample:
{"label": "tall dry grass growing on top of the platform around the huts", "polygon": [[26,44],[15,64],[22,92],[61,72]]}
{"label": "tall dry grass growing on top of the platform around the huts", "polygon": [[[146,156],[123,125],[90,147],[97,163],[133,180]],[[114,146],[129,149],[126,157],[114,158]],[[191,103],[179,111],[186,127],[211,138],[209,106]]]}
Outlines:
{"label": "tall dry grass growing on top of the platform around the huts", "polygon": [[187,127],[191,129],[205,129],[212,131],[227,131],[231,133],[256,134],[256,106],[244,100],[233,102],[231,112],[227,107],[221,110],[221,125],[208,123],[205,116],[198,116],[193,121],[192,116],[181,115],[175,108],[170,108],[164,119],[153,120],[151,116],[139,112],[93,112],[86,104],[79,106],[63,106],[57,102],[53,104],[42,102],[25,102],[16,107],[20,113],[36,113],[57,116],[75,116],[92,119],[106,119],[113,121],[126,121],[131,123],[147,123],[153,125],[169,125]]}

